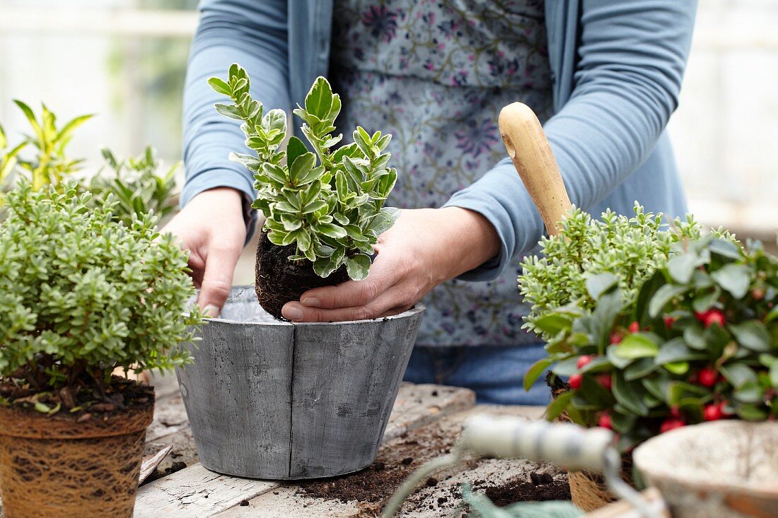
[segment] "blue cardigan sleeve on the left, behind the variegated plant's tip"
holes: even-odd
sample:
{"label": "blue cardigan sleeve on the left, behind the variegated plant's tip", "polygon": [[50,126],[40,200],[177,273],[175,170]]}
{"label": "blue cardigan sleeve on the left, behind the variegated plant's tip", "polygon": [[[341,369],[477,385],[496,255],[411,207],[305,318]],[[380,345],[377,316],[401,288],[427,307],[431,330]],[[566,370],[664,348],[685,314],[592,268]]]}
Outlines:
{"label": "blue cardigan sleeve on the left, behind the variegated plant's tip", "polygon": [[[254,179],[244,166],[227,159],[244,149],[237,121],[214,109],[225,98],[207,81],[225,78],[232,63],[250,75],[251,95],[265,111],[289,111],[289,61],[286,0],[203,0],[201,19],[187,65],[184,86],[184,168],[181,205],[214,187],[233,187],[254,200]],[[247,213],[254,219],[255,212]],[[249,229],[253,221],[248,221]]]}

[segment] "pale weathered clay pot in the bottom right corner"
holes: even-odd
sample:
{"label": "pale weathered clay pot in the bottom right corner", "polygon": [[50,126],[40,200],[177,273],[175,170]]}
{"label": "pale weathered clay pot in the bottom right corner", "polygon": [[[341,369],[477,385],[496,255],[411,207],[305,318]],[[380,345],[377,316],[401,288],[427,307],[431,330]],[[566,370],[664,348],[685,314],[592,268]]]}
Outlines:
{"label": "pale weathered clay pot in the bottom right corner", "polygon": [[778,423],[716,421],[647,440],[635,464],[674,518],[778,513]]}

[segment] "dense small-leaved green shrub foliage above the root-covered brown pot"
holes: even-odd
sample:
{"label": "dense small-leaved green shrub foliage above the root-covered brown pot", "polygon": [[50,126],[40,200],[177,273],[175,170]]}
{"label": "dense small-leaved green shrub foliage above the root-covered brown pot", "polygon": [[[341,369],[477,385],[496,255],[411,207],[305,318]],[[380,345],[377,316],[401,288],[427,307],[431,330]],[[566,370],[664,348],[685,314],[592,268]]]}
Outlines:
{"label": "dense small-leaved green shrub foliage above the root-covered brown pot", "polygon": [[[150,215],[130,225],[64,182],[5,197],[0,226],[0,380],[36,393],[103,391],[114,368],[190,361],[202,318],[187,257]],[[89,388],[91,393],[92,388]],[[104,394],[104,391],[103,391]],[[66,398],[72,399],[72,398]]]}

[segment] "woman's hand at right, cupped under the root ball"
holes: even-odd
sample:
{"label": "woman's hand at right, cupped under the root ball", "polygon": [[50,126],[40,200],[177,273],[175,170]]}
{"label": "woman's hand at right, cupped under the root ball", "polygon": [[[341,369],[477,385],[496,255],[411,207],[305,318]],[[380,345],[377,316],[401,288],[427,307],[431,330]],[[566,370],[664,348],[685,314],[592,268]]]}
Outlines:
{"label": "woman's hand at right, cupped under the root ball", "polygon": [[458,207],[404,210],[381,234],[363,281],[310,289],[282,310],[293,322],[365,320],[401,313],[443,281],[477,268],[499,251],[496,230]]}

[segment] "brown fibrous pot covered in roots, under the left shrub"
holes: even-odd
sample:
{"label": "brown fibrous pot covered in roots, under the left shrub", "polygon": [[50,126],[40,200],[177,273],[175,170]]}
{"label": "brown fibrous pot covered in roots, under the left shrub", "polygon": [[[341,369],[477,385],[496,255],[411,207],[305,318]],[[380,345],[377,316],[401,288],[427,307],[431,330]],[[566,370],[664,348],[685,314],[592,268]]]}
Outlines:
{"label": "brown fibrous pot covered in roots, under the left shrub", "polygon": [[130,518],[154,402],[78,422],[0,406],[5,518]]}

